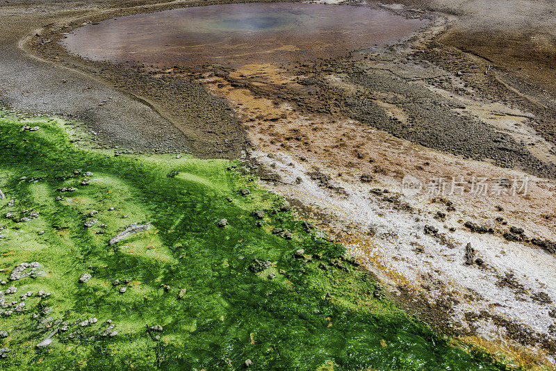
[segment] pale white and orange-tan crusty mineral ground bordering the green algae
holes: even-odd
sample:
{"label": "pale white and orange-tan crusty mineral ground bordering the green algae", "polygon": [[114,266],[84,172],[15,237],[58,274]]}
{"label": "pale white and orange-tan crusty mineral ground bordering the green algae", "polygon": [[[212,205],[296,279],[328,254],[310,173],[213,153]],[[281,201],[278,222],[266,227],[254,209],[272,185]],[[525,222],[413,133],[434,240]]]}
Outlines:
{"label": "pale white and orange-tan crusty mineral ground bordering the green algae", "polygon": [[[381,67],[404,76],[417,74],[417,67],[411,65],[382,62]],[[257,76],[259,83],[267,79],[295,84],[288,72],[272,65],[250,65],[234,74]],[[352,88],[345,76],[330,74],[327,79],[337,88]],[[516,362],[555,367],[556,360],[545,346],[525,343],[514,335],[516,327],[546,336],[547,341],[556,340],[555,318],[549,315],[554,304],[535,299],[545,292],[556,300],[555,257],[530,243],[508,242],[502,237],[510,226],[521,226],[529,238],[556,240],[556,204],[550,201],[556,196],[555,181],[442,154],[353,119],[299,113],[287,103],[275,104],[245,88],[231,88],[212,74],[201,81],[234,104],[256,148],[252,157],[281,177],[281,182],[263,182],[263,186],[308,207],[306,215],[345,242],[351,254],[387,283],[394,298],[400,297],[409,306],[413,302],[417,312],[429,312],[429,320],[445,320],[449,330],[491,352],[503,352]],[[534,115],[500,102],[484,104],[473,99],[470,87],[458,95],[426,81],[415,83],[427,86],[433,94],[461,101],[465,105],[461,112],[484,124],[535,142],[529,147],[534,156],[556,162],[553,145],[530,125]],[[400,120],[407,118],[393,104],[379,100],[379,106]],[[277,119],[280,115],[286,118]],[[316,170],[331,176],[332,188],[311,179],[310,173]],[[361,174],[371,174],[375,181],[362,183]],[[475,196],[466,192],[439,200],[425,192],[405,197],[401,183],[407,174],[423,182],[461,176],[466,181],[473,176],[529,177],[530,182],[527,195]],[[302,179],[299,184],[297,177]],[[370,192],[374,188],[386,188],[390,193],[378,196]],[[395,208],[384,201],[384,196],[391,195],[398,195],[402,205],[411,209]],[[455,211],[447,211],[446,201],[452,202]],[[437,212],[446,213],[445,220],[436,219]],[[507,224],[496,222],[496,217],[503,217]],[[464,227],[466,221],[492,226],[496,233],[473,233]],[[424,233],[425,225],[438,228],[445,239]],[[484,265],[464,265],[468,242]],[[507,276],[513,277],[514,287],[504,285]]]}

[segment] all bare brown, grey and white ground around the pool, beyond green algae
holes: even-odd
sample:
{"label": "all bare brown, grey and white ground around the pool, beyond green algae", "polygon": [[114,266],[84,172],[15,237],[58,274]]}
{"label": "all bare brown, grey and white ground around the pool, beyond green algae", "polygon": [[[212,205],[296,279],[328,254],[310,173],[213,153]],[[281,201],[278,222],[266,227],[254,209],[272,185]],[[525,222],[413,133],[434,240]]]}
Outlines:
{"label": "all bare brown, grey and white ground around the pool, beyond green algae", "polygon": [[[84,119],[106,145],[247,154],[263,186],[433,327],[556,368],[550,1],[383,1],[430,26],[395,47],[290,66],[122,70],[49,42],[83,22],[195,5],[147,3],[3,6],[0,100]],[[419,192],[402,187],[408,175]]]}

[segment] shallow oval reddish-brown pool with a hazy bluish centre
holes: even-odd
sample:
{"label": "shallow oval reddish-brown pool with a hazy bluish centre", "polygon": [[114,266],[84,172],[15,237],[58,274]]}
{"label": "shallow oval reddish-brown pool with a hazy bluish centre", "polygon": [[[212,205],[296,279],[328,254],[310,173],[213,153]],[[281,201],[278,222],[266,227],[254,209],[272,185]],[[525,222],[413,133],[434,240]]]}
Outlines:
{"label": "shallow oval reddish-brown pool with a hazy bluish centre", "polygon": [[158,67],[288,63],[394,42],[424,22],[359,6],[243,3],[108,19],[76,29],[68,51]]}

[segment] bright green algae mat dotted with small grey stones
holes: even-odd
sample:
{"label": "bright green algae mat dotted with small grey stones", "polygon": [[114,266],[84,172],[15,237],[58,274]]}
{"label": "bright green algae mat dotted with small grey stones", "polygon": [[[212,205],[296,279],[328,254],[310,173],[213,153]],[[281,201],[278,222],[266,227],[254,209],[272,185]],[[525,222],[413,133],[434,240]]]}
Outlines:
{"label": "bright green algae mat dotted with small grey stones", "polygon": [[384,299],[238,164],[0,117],[1,370],[506,369]]}

